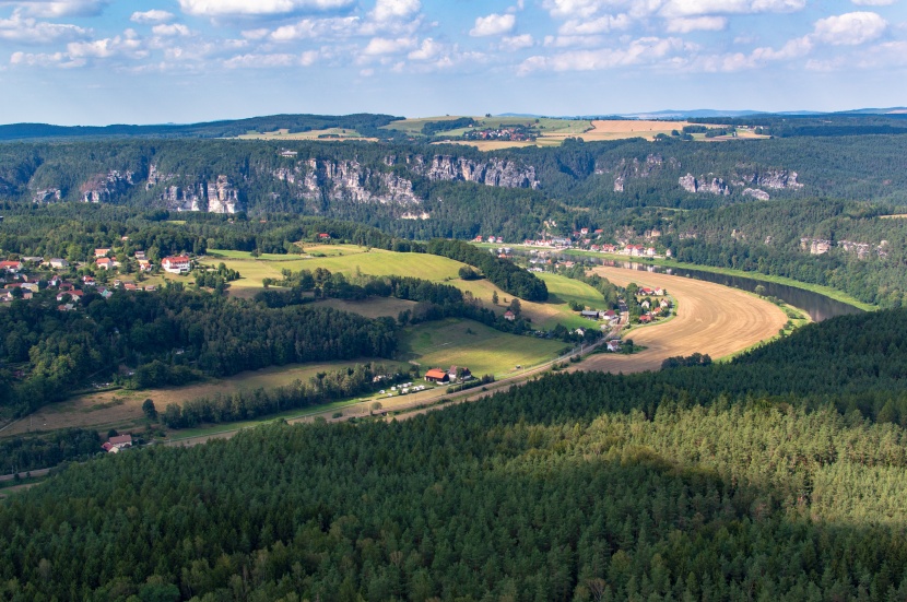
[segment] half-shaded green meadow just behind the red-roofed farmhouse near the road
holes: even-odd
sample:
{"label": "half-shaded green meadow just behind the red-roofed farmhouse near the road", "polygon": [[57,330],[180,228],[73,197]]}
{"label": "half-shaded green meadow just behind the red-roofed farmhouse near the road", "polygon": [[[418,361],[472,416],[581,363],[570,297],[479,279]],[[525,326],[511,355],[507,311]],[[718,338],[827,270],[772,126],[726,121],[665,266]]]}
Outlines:
{"label": "half-shaded green meadow just behind the red-roofed farmhouse near the road", "polygon": [[408,328],[401,341],[404,357],[419,363],[423,374],[431,368],[464,366],[476,377],[505,376],[516,366],[541,364],[556,357],[564,346],[561,341],[517,337],[452,318]]}

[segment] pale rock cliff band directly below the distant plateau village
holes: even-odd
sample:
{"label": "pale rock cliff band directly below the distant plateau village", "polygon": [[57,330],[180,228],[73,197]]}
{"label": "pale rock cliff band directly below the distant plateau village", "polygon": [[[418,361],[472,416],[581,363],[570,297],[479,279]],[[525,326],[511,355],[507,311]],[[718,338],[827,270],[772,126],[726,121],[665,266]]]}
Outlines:
{"label": "pale rock cliff band directly below the distant plateau village", "polygon": [[450,155],[435,155],[427,162],[422,155],[407,157],[410,169],[432,181],[472,181],[500,188],[541,187],[531,165],[519,165],[506,158],[475,161]]}

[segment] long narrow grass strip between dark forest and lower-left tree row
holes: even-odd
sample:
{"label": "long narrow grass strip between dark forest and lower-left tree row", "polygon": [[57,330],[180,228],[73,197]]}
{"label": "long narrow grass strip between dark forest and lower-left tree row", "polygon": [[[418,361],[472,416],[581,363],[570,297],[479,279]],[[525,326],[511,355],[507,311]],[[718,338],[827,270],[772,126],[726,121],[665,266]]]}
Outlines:
{"label": "long narrow grass strip between dark forest and lower-left tree row", "polygon": [[[167,387],[144,391],[105,391],[89,393],[68,401],[54,403],[32,414],[30,420],[22,420],[2,433],[0,437],[13,437],[35,430],[57,430],[69,427],[96,428],[107,432],[109,428],[129,429],[144,427],[142,402],[154,401],[158,412],[169,403],[182,404],[188,400],[210,397],[214,393],[229,393],[236,390],[273,388],[290,385],[294,380],[308,380],[319,371],[339,370],[356,364],[365,364],[368,358],[352,362],[326,362],[319,364],[295,364],[275,366],[256,371],[243,373],[229,378],[211,379],[186,387]],[[389,359],[374,359],[388,366],[409,369],[405,364]]]}

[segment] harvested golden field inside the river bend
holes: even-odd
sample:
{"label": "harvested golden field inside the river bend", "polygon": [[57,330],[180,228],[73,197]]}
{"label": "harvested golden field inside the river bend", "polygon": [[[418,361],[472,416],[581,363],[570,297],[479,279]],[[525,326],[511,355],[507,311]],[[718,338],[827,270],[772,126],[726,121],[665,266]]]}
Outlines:
{"label": "harvested golden field inside the river bend", "polygon": [[622,268],[596,268],[594,272],[619,286],[635,282],[665,288],[678,303],[678,315],[626,337],[648,347],[646,351],[635,355],[592,355],[576,369],[657,370],[668,357],[696,352],[717,359],[775,337],[788,320],[780,308],[767,300],[720,284]]}

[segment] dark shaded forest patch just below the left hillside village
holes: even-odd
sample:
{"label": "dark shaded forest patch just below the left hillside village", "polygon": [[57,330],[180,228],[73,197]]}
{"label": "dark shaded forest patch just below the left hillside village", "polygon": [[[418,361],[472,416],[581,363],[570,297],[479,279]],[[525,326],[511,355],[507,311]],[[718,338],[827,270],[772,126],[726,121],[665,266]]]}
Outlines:
{"label": "dark shaded forest patch just below the left hillside village", "polygon": [[28,366],[23,380],[0,369],[0,410],[22,415],[132,367],[129,387],[180,385],[273,365],[390,357],[393,320],[327,307],[261,307],[169,286],[156,293],[89,293],[85,311],[14,302],[0,310],[0,359]]}

